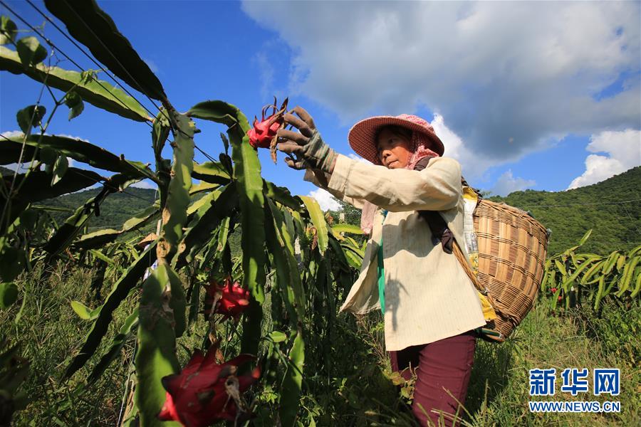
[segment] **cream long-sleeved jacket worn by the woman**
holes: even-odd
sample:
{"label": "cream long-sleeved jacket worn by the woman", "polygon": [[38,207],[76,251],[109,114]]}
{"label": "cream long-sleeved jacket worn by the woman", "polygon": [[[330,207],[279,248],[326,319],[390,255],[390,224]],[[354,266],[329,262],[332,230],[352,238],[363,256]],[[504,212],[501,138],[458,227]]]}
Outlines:
{"label": "cream long-sleeved jacket worn by the woman", "polygon": [[[311,171],[306,180],[320,186]],[[328,186],[338,199],[377,212],[358,280],[340,311],[380,309],[377,253],[382,235],[385,268],[385,347],[387,351],[427,344],[485,325],[474,285],[453,254],[434,246],[417,211],[439,211],[457,241],[463,240],[461,167],[436,157],[422,171],[387,169],[338,156]],[[462,248],[464,251],[464,248]],[[466,254],[467,258],[467,254]]]}

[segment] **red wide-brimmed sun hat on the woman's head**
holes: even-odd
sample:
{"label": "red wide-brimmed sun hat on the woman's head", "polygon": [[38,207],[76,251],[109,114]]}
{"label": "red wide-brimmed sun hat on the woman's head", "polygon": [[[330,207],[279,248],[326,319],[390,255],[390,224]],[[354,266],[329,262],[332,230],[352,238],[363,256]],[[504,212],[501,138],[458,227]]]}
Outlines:
{"label": "red wide-brimmed sun hat on the woman's head", "polygon": [[427,136],[429,142],[432,143],[432,146],[427,148],[437,152],[439,156],[443,155],[443,142],[441,142],[441,139],[434,133],[434,127],[432,127],[427,120],[409,114],[375,116],[361,120],[350,129],[348,135],[350,147],[352,147],[360,157],[363,157],[363,159],[369,160],[373,164],[380,164],[374,138],[376,137],[376,132],[378,132],[381,127],[387,125],[407,127],[407,129],[413,132],[421,132]]}

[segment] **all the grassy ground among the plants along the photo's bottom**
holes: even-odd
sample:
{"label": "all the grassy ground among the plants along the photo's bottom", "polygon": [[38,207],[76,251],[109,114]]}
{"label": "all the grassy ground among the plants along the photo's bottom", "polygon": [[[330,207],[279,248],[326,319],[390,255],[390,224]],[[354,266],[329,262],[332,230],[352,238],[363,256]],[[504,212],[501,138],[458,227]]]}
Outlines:
{"label": "all the grassy ground among the plants along the photo's bottom", "polygon": [[[20,344],[30,362],[22,390],[31,399],[14,417],[16,426],[115,426],[120,414],[127,372],[135,339],[130,337],[120,357],[95,384],[85,386],[88,367],[71,380],[61,381],[71,358],[77,354],[90,322],[71,310],[71,300],[92,304],[91,272],[56,265],[46,280],[41,272],[18,280],[21,296],[27,295],[20,319],[20,304],[0,311],[0,335]],[[103,295],[108,290],[103,289]],[[137,303],[132,295],[115,312],[115,323],[97,354],[103,354],[111,337]],[[204,322],[192,326],[179,340],[179,357],[202,344]],[[385,359],[380,315],[356,318],[340,315],[336,341],[330,348],[312,349],[325,354],[331,364],[319,372],[306,371],[301,399],[301,425],[412,426],[407,399],[390,380]],[[463,423],[466,426],[639,426],[641,425],[641,310],[639,307],[605,305],[600,315],[591,310],[553,312],[541,301],[504,344],[479,341]],[[183,347],[184,346],[184,347]],[[621,369],[620,396],[573,397],[561,393],[561,371],[568,367]],[[530,413],[527,402],[528,369],[556,368],[555,396],[536,400],[585,400],[621,402],[620,413]],[[592,379],[590,377],[590,385]],[[277,394],[266,387],[256,394],[263,402],[256,425],[273,426]],[[467,411],[467,413],[465,413]],[[312,421],[313,420],[313,421]]]}

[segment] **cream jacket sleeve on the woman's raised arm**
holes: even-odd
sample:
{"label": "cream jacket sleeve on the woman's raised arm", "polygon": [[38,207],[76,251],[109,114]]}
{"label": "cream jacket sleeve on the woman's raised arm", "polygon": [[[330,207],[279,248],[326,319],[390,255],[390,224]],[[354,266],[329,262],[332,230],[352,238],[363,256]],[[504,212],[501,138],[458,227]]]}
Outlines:
{"label": "cream jacket sleeve on the woman's raised arm", "polygon": [[461,166],[437,157],[422,171],[387,169],[339,154],[327,190],[339,199],[364,199],[392,212],[444,211],[454,208],[462,194]]}

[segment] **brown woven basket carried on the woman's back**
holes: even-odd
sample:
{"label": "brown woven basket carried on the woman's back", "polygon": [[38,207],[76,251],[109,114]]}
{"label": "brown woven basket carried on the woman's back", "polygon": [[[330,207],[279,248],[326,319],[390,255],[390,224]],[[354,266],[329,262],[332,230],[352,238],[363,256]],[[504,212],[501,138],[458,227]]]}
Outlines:
{"label": "brown woven basket carried on the woman's back", "polygon": [[521,209],[481,199],[474,211],[479,244],[478,279],[499,316],[488,329],[504,341],[531,310],[548,251],[546,228]]}

